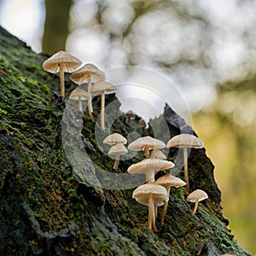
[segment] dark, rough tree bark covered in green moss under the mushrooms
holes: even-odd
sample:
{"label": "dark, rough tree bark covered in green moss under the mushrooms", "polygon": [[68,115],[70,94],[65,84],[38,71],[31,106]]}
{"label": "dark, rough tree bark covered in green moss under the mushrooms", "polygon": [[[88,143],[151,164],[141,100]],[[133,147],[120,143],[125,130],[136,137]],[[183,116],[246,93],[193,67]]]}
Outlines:
{"label": "dark, rough tree bark covered in green moss under the mushrooms", "polygon": [[[101,183],[109,182],[101,177],[99,187],[91,187],[87,178],[95,175],[95,166],[113,172],[113,160],[96,143],[95,124],[84,114],[79,141],[95,164],[81,160],[90,174],[84,177],[73,170],[62,146],[61,124],[72,124],[67,128],[70,134],[79,125],[72,112],[61,122],[68,103],[55,92],[59,91],[58,76],[41,68],[47,56],[36,55],[2,28],[0,32],[1,255],[249,255],[226,226],[212,162],[204,148],[189,154],[189,180],[192,190],[204,189],[209,199],[192,216],[193,206],[185,201],[183,188],[172,189],[166,224],[160,228],[158,219],[156,234],[147,230],[147,208],[131,198],[133,189],[101,189]],[[74,88],[67,79],[67,92]],[[106,99],[113,100],[113,96]],[[98,100],[94,107],[99,113]],[[192,129],[166,106],[164,115],[154,119],[146,133],[137,127],[137,119],[125,124],[123,115],[113,122],[112,131],[146,135],[154,127],[157,137],[164,123],[171,136]],[[176,149],[170,150],[169,159],[176,154]],[[142,157],[137,154],[121,161],[117,172],[125,173]],[[181,165],[179,158],[175,163],[173,172]]]}

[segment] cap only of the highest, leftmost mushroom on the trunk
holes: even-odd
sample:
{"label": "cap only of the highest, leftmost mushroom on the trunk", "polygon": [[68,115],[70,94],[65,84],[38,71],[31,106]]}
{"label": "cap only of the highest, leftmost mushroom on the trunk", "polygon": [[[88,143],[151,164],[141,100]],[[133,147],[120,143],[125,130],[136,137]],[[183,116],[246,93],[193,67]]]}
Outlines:
{"label": "cap only of the highest, leftmost mushroom on the trunk", "polygon": [[64,72],[71,73],[76,70],[82,62],[67,51],[61,50],[44,61],[43,68],[49,73],[60,72],[60,64],[64,65]]}

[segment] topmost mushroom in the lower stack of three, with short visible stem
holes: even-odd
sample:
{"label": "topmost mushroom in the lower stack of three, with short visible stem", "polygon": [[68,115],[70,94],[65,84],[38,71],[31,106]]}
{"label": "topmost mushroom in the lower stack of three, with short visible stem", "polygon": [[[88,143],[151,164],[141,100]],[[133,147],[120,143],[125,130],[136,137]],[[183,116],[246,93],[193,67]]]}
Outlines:
{"label": "topmost mushroom in the lower stack of three, with short visible stem", "polygon": [[166,147],[165,143],[150,136],[139,137],[137,140],[130,143],[128,146],[129,149],[135,150],[135,151],[145,150],[146,158],[149,158],[149,149],[165,148],[165,147]]}

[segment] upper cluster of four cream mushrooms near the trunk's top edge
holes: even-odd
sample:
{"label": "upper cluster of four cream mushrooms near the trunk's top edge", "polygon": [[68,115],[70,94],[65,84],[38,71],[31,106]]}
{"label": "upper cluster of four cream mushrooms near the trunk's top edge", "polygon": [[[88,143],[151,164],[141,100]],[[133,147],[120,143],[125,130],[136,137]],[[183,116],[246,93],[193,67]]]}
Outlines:
{"label": "upper cluster of four cream mushrooms near the trunk's top edge", "polygon": [[82,61],[77,57],[63,50],[44,61],[43,68],[49,73],[60,73],[61,96],[63,97],[65,97],[64,73],[72,73],[69,79],[75,84],[87,83],[87,91],[77,87],[72,91],[69,98],[79,102],[79,111],[81,112],[83,112],[82,101],[86,100],[90,119],[94,122],[96,119],[93,114],[91,96],[101,96],[101,127],[104,130],[105,94],[115,92],[116,86],[105,80],[102,70],[92,63],[82,64]]}

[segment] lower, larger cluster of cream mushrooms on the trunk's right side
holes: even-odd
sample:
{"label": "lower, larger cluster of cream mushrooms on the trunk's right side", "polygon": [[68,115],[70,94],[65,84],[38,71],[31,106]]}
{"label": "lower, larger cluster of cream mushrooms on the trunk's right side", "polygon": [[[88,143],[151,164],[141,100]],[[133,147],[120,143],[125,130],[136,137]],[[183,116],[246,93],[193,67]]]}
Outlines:
{"label": "lower, larger cluster of cream mushrooms on the trunk's right side", "polygon": [[[118,168],[119,156],[127,154],[125,148],[127,143],[125,137],[119,133],[110,134],[103,140],[103,143],[112,145],[109,149],[109,155],[115,155],[113,169]],[[194,135],[180,134],[172,137],[166,144],[153,137],[140,137],[128,145],[130,150],[144,150],[145,159],[137,164],[131,165],[127,172],[132,174],[144,174],[145,183],[140,185],[133,191],[132,198],[137,202],[148,206],[148,230],[157,231],[155,220],[157,218],[157,207],[164,206],[160,224],[164,224],[171,187],[178,188],[186,186],[186,193],[189,194],[189,175],[188,175],[188,148],[202,148],[203,143]],[[172,161],[166,160],[166,155],[160,151],[160,148],[183,148],[183,163],[184,163],[184,180],[179,177],[172,176],[170,173],[154,180],[154,175],[157,172],[165,171],[174,167]],[[192,212],[194,215],[198,207],[199,201],[207,199],[207,193],[201,189],[196,189],[188,195],[187,201],[195,202],[195,207]]]}

